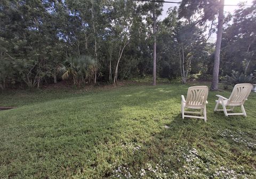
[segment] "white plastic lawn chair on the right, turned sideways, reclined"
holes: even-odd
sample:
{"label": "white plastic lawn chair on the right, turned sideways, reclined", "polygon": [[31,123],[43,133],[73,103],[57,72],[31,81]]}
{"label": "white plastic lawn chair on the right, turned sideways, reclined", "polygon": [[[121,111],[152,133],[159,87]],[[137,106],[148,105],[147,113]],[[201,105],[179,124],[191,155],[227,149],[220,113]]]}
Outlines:
{"label": "white plastic lawn chair on the right, turned sideways, reclined", "polygon": [[[253,85],[249,83],[235,85],[229,99],[221,95],[216,95],[217,97],[219,97],[219,99],[216,100],[217,104],[214,108],[214,111],[224,111],[225,116],[230,116],[230,115],[246,116],[246,112],[244,109],[244,102],[245,100],[247,100],[247,97],[251,93],[252,87]],[[218,109],[219,104],[222,105],[223,109]],[[233,111],[236,106],[240,106],[240,105],[241,105],[242,113],[228,113],[228,111]],[[231,109],[227,109],[226,107],[231,107]]]}

